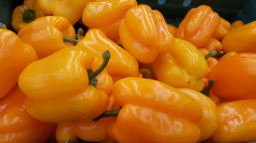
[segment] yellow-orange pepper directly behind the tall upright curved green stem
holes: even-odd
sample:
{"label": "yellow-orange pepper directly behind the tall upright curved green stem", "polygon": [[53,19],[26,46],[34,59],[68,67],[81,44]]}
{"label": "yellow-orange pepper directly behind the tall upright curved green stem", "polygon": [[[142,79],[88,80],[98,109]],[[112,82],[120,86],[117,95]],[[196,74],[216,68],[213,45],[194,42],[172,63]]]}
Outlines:
{"label": "yellow-orange pepper directly behind the tall upright curved green stem", "polygon": [[111,76],[129,77],[138,75],[139,66],[136,59],[129,52],[106,38],[100,30],[88,31],[86,36],[76,45],[89,49],[98,56],[101,56],[105,50],[109,50],[112,56],[106,69]]}

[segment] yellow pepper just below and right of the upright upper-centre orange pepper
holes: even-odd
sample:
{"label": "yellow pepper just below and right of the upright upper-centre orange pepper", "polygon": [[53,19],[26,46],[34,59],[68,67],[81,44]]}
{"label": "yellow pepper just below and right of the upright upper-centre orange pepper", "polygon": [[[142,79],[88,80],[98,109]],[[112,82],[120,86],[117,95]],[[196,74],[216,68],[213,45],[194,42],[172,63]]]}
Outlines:
{"label": "yellow pepper just below and right of the upright upper-centre orange pepper", "polygon": [[174,88],[201,91],[201,80],[207,72],[207,63],[200,51],[191,43],[175,38],[175,45],[167,54],[158,55],[152,63],[156,78]]}

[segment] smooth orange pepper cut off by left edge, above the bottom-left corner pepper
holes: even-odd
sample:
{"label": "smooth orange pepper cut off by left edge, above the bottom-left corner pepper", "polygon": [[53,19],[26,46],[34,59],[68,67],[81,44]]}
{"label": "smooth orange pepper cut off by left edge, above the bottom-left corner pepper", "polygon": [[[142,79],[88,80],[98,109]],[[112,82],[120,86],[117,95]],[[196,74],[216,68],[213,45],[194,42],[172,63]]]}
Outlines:
{"label": "smooth orange pepper cut off by left edge, above the bottom-left corner pepper", "polygon": [[18,76],[30,63],[37,61],[33,47],[24,44],[12,31],[0,28],[0,99],[18,82]]}

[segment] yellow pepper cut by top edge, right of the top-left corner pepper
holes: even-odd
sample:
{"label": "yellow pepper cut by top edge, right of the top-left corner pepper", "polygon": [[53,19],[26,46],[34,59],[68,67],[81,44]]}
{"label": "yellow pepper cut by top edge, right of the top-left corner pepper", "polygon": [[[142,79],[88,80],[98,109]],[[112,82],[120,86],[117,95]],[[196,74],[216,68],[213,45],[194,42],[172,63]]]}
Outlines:
{"label": "yellow pepper cut by top edge, right of the top-left corner pepper", "polygon": [[91,0],[38,0],[38,6],[47,15],[63,16],[74,25],[81,17],[84,7]]}

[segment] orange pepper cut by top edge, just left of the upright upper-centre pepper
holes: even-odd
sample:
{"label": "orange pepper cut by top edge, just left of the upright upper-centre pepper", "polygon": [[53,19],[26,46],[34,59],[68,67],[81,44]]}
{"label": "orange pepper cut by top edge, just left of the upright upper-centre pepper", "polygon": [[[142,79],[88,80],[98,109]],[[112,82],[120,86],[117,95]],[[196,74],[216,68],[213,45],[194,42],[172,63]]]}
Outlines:
{"label": "orange pepper cut by top edge, just left of the upright upper-centre pepper", "polygon": [[100,29],[109,39],[117,39],[119,37],[118,29],[125,13],[137,5],[136,0],[93,1],[86,5],[82,21],[90,29]]}

